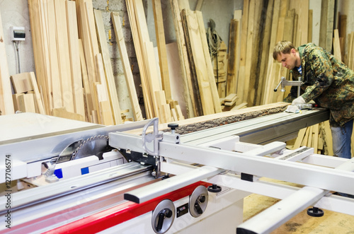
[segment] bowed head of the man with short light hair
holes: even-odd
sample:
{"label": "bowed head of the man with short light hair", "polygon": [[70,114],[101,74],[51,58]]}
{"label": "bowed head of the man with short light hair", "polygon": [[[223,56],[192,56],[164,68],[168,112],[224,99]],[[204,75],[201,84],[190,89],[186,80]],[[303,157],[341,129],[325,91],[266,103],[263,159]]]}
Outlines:
{"label": "bowed head of the man with short light hair", "polygon": [[287,69],[294,69],[295,66],[300,66],[301,59],[299,53],[292,42],[285,40],[280,41],[273,49],[273,59],[282,63],[282,66]]}

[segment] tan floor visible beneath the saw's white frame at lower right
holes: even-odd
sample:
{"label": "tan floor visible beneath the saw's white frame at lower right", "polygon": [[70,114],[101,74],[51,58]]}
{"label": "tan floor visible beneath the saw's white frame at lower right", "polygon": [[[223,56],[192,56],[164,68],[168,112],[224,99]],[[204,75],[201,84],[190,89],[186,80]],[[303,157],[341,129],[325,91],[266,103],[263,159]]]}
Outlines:
{"label": "tan floor visible beneath the saw's white frame at lower right", "polygon": [[[277,203],[279,199],[251,194],[244,199],[244,221]],[[307,215],[307,209],[284,223],[272,234],[321,233],[354,234],[354,216],[324,210],[324,216],[316,218]]]}

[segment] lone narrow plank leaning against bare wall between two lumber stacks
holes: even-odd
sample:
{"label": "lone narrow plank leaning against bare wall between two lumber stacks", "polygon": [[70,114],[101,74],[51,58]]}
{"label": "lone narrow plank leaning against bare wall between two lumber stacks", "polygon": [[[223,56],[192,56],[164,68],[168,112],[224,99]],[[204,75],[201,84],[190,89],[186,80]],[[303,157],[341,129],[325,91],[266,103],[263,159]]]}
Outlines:
{"label": "lone narrow plank leaning against bare wall between two lumber stacks", "polygon": [[139,100],[137,99],[137,91],[135,90],[134,78],[132,76],[132,70],[130,69],[129,57],[127,54],[127,47],[125,47],[124,36],[122,33],[122,23],[118,13],[112,12],[111,16],[113,27],[115,30],[115,37],[117,40],[120,58],[122,61],[123,71],[125,75],[125,82],[127,83],[130,103],[132,105],[132,112],[135,121],[142,120],[142,110],[140,109]]}

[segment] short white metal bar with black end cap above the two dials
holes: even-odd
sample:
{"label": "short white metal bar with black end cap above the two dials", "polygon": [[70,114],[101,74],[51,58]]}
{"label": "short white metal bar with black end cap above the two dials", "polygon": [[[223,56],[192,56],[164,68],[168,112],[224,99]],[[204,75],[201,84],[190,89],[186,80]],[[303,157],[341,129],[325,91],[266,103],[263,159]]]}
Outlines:
{"label": "short white metal bar with black end cap above the two dials", "polygon": [[124,199],[134,201],[135,203],[142,203],[176,189],[181,189],[181,187],[204,180],[207,177],[217,175],[223,171],[224,170],[222,169],[204,166],[202,168],[197,168],[184,174],[176,175],[154,184],[127,192],[124,194]]}

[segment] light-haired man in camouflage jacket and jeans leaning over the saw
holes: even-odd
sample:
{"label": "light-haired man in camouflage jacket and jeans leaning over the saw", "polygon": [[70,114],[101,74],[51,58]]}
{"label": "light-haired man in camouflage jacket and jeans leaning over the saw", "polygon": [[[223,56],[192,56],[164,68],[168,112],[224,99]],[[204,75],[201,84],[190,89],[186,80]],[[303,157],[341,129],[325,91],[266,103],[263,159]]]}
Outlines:
{"label": "light-haired man in camouflage jacket and jeans leaning over the saw", "polygon": [[333,153],[343,158],[351,158],[354,71],[313,43],[296,49],[291,42],[278,42],[273,51],[273,58],[290,69],[294,80],[299,76],[302,77],[302,95],[296,98],[297,87],[293,86],[285,101],[292,101],[292,105],[297,105],[314,100],[320,107],[328,108],[333,135]]}

